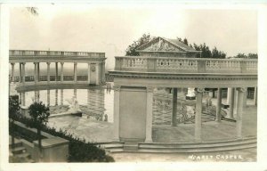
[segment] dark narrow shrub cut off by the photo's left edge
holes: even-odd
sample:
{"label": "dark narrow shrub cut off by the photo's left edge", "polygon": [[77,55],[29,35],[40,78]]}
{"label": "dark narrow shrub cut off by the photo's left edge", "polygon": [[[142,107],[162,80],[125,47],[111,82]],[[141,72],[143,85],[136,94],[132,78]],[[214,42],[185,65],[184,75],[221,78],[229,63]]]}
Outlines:
{"label": "dark narrow shrub cut off by the photo's left edge", "polygon": [[[9,121],[11,129],[10,133],[12,133],[13,129],[15,128],[14,121],[15,118],[17,118],[19,115],[19,110],[20,110],[19,95],[10,95],[9,96]],[[14,148],[14,142],[15,138],[14,135],[12,134],[12,148]]]}

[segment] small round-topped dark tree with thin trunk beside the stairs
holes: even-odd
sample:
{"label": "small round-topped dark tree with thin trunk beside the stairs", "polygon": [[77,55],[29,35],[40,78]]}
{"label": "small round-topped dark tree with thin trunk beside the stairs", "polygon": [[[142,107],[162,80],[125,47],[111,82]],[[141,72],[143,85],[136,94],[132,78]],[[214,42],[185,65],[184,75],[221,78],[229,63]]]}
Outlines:
{"label": "small round-topped dark tree with thin trunk beside the stairs", "polygon": [[28,107],[28,114],[31,117],[30,127],[35,127],[37,129],[38,145],[39,150],[42,150],[42,136],[41,128],[48,122],[48,117],[50,115],[49,108],[44,105],[43,102],[33,102]]}

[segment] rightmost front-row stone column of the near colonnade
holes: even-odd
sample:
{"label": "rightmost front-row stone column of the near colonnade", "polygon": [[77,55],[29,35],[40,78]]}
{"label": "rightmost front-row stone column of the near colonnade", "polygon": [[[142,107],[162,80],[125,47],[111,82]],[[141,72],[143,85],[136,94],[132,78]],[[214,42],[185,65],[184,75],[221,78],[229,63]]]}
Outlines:
{"label": "rightmost front-row stone column of the near colonnade", "polygon": [[245,87],[237,88],[239,91],[239,98],[238,98],[238,111],[237,111],[237,137],[242,137],[242,115],[243,115],[243,108],[244,108],[244,93],[246,92]]}

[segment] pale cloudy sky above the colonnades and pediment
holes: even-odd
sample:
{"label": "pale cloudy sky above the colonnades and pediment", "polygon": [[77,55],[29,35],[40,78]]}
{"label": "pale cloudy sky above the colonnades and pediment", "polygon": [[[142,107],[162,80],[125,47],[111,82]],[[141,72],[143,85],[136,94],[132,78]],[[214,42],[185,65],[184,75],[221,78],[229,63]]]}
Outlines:
{"label": "pale cloudy sky above the colonnades and pediment", "polygon": [[257,53],[257,12],[249,9],[184,9],[175,5],[38,6],[38,15],[14,7],[10,15],[10,49],[106,53],[114,56],[144,33],[187,37],[190,43],[217,46],[228,56]]}

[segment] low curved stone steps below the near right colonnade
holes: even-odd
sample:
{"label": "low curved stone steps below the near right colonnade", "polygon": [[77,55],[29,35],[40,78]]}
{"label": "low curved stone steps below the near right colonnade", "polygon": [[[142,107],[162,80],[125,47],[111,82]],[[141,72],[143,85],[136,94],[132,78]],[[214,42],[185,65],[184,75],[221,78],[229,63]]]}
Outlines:
{"label": "low curved stone steps below the near right colonnade", "polygon": [[[241,149],[256,148],[256,137],[247,137],[218,142],[138,142],[135,145],[123,142],[109,144],[104,147],[110,153],[117,152],[141,152],[141,153],[192,153],[192,152],[214,152],[234,151]],[[134,148],[134,149],[133,149]]]}

